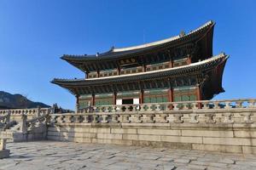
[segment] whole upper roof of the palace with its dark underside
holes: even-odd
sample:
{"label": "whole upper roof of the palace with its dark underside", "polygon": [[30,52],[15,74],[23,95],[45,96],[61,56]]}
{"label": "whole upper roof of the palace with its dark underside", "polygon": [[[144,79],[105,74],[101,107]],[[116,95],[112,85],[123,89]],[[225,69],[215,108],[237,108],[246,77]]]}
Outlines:
{"label": "whole upper roof of the palace with its dark underside", "polygon": [[[69,55],[64,54],[61,59],[66,60],[71,65],[81,71],[98,71],[119,67],[120,59],[147,57],[147,54],[157,54],[159,51],[169,51],[175,48],[190,46],[201,46],[201,59],[212,56],[212,34],[214,22],[208,21],[203,26],[188,34],[181,34],[157,42],[150,42],[143,45],[128,48],[111,48],[108,52],[93,55]],[[141,58],[140,58],[141,59]],[[112,62],[109,62],[109,61]],[[143,61],[142,61],[143,62]]]}

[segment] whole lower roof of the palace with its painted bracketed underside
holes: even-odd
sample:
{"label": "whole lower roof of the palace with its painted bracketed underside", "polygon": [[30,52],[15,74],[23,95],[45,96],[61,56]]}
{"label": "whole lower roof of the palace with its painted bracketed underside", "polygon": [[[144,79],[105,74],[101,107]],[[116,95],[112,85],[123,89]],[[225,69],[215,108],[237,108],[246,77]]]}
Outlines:
{"label": "whole lower roof of the palace with its painted bracketed underside", "polygon": [[[222,75],[224,65],[228,59],[226,54],[218,54],[210,59],[168,68],[159,71],[146,71],[131,75],[120,75],[115,77],[97,77],[90,79],[59,79],[55,83],[62,88],[67,88],[72,94],[101,94],[128,90],[139,90],[144,88],[170,88],[184,85],[207,83],[207,96],[224,91],[222,88]],[[181,81],[182,79],[182,81]],[[184,84],[188,82],[189,84]],[[179,83],[183,82],[183,83]]]}

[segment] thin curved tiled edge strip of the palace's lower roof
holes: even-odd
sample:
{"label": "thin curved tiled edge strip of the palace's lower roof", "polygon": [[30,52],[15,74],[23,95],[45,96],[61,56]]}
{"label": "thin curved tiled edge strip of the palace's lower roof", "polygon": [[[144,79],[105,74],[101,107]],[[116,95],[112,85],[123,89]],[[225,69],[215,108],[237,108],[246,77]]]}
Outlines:
{"label": "thin curved tiled edge strip of the palace's lower roof", "polygon": [[177,77],[181,75],[191,75],[195,72],[209,71],[214,69],[217,65],[223,63],[228,56],[225,54],[219,54],[218,56],[212,57],[210,59],[203,60],[190,65],[184,65],[180,67],[169,68],[160,71],[148,71],[142,73],[136,73],[131,75],[121,75],[116,77],[100,77],[100,78],[90,78],[90,79],[54,79],[52,83],[55,83],[62,88],[75,88],[75,87],[86,87],[92,85],[102,85],[109,83],[119,83],[119,82],[132,82],[132,81],[144,81],[152,80],[160,77]]}

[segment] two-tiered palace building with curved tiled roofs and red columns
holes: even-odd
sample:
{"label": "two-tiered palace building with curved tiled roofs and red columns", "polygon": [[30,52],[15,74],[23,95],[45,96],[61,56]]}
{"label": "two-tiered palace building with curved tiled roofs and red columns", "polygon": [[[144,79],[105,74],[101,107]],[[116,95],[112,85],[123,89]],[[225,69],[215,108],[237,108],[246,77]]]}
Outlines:
{"label": "two-tiered palace building with curved tiled roofs and red columns", "polygon": [[212,99],[224,92],[228,59],[224,53],[212,56],[214,25],[211,20],[187,34],[102,54],[64,54],[61,59],[85,77],[52,82],[76,96],[77,109]]}

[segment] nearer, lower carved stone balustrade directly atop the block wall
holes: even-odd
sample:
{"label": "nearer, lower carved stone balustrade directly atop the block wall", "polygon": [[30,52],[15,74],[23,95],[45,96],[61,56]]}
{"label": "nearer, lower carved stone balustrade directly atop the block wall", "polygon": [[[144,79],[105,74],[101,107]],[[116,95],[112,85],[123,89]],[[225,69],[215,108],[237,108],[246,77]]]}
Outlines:
{"label": "nearer, lower carved stone balustrade directly atop the block wall", "polygon": [[256,108],[229,112],[169,111],[169,112],[123,112],[123,113],[78,113],[52,114],[53,123],[255,123]]}

